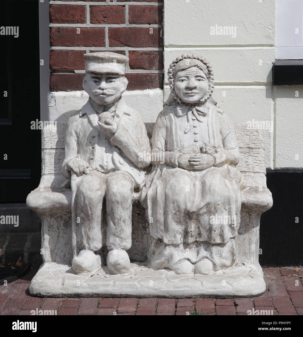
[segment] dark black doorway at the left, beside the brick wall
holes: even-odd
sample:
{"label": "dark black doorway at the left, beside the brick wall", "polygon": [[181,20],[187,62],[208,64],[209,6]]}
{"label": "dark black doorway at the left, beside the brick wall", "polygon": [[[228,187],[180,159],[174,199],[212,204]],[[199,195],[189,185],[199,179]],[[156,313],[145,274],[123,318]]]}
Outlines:
{"label": "dark black doorway at the left, beside the brick wall", "polygon": [[40,120],[39,2],[0,7],[0,203],[25,203],[41,175],[41,130],[31,129]]}

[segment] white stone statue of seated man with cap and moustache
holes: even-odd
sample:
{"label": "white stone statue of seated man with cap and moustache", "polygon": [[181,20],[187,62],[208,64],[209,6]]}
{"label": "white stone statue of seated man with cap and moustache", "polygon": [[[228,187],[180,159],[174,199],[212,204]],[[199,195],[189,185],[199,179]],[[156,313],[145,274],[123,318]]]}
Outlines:
{"label": "white stone statue of seated man with cap and moustache", "polygon": [[128,58],[111,52],[84,58],[83,88],[90,98],[68,119],[61,169],[73,192],[72,267],[76,273],[100,268],[98,252],[106,246],[109,272],[125,273],[130,269],[132,194],[144,179],[142,168],[150,164],[139,160],[141,152],[150,151],[149,139],[140,114],[121,97]]}

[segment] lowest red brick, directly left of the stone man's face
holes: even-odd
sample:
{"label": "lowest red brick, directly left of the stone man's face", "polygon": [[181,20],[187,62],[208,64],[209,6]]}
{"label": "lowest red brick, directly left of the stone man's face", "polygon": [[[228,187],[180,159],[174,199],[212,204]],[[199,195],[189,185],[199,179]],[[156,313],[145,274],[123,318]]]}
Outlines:
{"label": "lowest red brick, directly left of the stone man's face", "polygon": [[50,91],[83,90],[85,74],[51,74]]}

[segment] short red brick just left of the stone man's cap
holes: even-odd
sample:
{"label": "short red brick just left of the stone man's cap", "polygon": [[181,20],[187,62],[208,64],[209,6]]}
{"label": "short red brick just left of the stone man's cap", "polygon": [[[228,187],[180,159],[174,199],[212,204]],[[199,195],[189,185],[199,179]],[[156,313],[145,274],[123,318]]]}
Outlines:
{"label": "short red brick just left of the stone man's cap", "polygon": [[51,50],[50,69],[51,70],[84,70],[85,60],[81,50]]}

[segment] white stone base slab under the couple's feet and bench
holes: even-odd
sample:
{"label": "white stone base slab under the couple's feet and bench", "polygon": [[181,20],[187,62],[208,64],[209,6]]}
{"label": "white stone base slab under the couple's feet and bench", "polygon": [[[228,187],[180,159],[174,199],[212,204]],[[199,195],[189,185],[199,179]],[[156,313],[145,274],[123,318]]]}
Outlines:
{"label": "white stone base slab under the couple's feet and bench", "polygon": [[110,275],[106,267],[77,275],[71,266],[44,263],[29,291],[43,297],[230,298],[253,297],[266,290],[263,273],[232,267],[211,275],[176,275],[132,263],[128,274]]}

